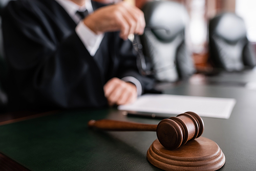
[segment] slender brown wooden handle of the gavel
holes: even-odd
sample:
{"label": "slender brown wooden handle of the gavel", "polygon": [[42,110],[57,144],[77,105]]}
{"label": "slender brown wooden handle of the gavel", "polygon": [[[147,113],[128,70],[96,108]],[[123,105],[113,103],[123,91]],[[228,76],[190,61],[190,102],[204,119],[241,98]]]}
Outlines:
{"label": "slender brown wooden handle of the gavel", "polygon": [[157,125],[154,124],[144,124],[135,122],[123,122],[116,120],[90,120],[88,122],[89,127],[96,127],[101,130],[108,131],[156,131]]}

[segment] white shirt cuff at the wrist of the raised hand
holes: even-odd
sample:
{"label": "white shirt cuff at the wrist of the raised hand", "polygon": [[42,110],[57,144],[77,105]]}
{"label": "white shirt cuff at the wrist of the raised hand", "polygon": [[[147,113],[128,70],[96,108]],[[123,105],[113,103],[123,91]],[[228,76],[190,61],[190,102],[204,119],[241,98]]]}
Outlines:
{"label": "white shirt cuff at the wrist of the raised hand", "polygon": [[99,35],[95,34],[91,29],[84,25],[83,20],[81,20],[76,26],[76,34],[81,39],[90,55],[94,56],[99,49],[104,33]]}

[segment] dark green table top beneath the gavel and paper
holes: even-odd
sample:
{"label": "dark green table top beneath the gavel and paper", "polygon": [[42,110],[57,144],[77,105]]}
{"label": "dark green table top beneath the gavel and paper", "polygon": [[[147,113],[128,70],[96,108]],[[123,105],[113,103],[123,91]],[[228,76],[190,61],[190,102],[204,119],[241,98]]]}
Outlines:
{"label": "dark green table top beneath the gavel and paper", "polygon": [[[255,170],[256,91],[181,84],[164,93],[236,98],[229,119],[203,117],[202,136],[215,141],[225,154],[226,163],[220,170]],[[103,118],[160,121],[127,117],[116,109],[62,111],[0,126],[0,152],[30,170],[160,170],[146,159],[147,149],[157,138],[155,132],[88,129],[89,120]]]}

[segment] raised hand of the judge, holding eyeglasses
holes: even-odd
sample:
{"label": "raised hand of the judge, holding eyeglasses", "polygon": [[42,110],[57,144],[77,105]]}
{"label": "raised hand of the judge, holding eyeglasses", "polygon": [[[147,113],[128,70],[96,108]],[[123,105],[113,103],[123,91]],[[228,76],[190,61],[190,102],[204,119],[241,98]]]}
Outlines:
{"label": "raised hand of the judge, holding eyeglasses", "polygon": [[99,8],[83,20],[96,34],[120,31],[120,37],[127,39],[129,34],[143,34],[144,13],[125,2]]}

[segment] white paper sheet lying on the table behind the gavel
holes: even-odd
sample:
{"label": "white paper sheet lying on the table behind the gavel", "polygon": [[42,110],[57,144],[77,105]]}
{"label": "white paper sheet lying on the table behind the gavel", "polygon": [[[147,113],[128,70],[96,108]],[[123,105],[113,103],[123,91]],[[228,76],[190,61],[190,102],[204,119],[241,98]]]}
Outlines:
{"label": "white paper sheet lying on the table behind the gavel", "polygon": [[119,105],[118,110],[161,114],[195,112],[202,117],[228,119],[236,99],[180,96],[167,94],[145,94],[132,104]]}

